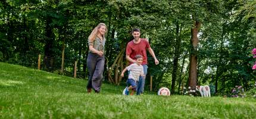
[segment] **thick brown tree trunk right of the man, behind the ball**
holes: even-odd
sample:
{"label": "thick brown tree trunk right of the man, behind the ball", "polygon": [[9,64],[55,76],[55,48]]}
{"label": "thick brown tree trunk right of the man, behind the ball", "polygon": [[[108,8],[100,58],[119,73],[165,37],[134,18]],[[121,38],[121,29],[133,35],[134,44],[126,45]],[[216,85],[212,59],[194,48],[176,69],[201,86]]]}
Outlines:
{"label": "thick brown tree trunk right of the man, behind the ball", "polygon": [[201,23],[195,21],[193,28],[191,29],[191,57],[190,57],[190,66],[189,66],[189,86],[191,89],[195,89],[196,80],[197,80],[197,46],[198,46],[198,32]]}

